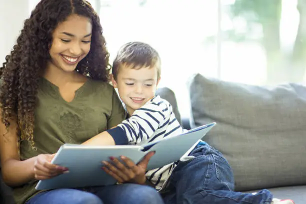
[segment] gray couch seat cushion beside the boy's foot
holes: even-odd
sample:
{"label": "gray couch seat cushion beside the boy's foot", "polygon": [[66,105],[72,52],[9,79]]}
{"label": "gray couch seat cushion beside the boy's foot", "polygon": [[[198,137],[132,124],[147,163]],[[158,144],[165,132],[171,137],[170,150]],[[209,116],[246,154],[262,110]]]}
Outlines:
{"label": "gray couch seat cushion beside the boy's foot", "polygon": [[[306,203],[306,185],[287,186],[268,188],[274,197],[279,199],[291,199],[295,204]],[[257,192],[259,190],[252,190],[250,192]]]}

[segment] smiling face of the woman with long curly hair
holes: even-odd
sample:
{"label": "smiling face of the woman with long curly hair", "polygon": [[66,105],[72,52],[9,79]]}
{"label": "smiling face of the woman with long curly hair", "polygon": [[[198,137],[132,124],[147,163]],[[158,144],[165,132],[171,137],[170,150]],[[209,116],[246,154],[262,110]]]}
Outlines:
{"label": "smiling face of the woman with long curly hair", "polygon": [[76,14],[59,23],[52,34],[50,65],[63,71],[73,71],[89,52],[91,30],[89,18]]}

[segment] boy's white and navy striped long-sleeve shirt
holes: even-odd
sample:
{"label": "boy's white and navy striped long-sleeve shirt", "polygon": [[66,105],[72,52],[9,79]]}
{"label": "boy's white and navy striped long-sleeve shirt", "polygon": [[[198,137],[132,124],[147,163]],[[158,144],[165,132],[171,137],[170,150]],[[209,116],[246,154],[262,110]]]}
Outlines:
{"label": "boy's white and navy striped long-sleeve shirt", "polygon": [[[142,144],[180,134],[183,129],[175,118],[171,104],[157,95],[135,110],[129,118],[107,131],[116,144]],[[148,170],[145,176],[160,190],[175,166],[174,162],[169,163]]]}

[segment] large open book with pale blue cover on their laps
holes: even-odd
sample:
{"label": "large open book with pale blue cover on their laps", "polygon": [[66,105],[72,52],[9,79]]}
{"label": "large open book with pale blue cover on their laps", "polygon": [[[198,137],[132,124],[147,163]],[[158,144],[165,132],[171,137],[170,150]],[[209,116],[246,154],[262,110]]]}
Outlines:
{"label": "large open book with pale blue cover on their laps", "polygon": [[147,170],[158,168],[179,160],[214,125],[215,122],[205,124],[182,134],[164,137],[159,141],[142,145],[89,146],[63,144],[51,163],[68,167],[69,172],[50,179],[39,180],[35,188],[42,190],[114,184],[116,180],[101,169],[102,160],[109,161],[110,156],[118,158],[124,155],[137,163],[149,151],[156,151],[148,163]]}

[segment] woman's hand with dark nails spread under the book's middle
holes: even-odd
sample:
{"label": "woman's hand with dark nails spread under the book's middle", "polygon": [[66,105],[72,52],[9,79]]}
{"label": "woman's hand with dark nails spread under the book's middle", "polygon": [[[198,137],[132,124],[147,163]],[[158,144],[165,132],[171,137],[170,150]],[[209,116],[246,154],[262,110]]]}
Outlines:
{"label": "woman's hand with dark nails spread under the book's middle", "polygon": [[154,151],[147,153],[137,164],[125,156],[120,156],[124,163],[121,163],[117,158],[110,157],[113,164],[108,161],[102,161],[104,166],[101,168],[121,183],[144,184],[146,166],[154,153]]}

